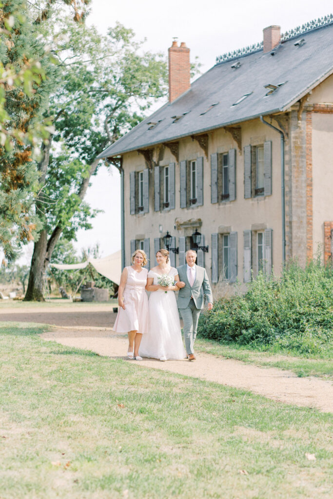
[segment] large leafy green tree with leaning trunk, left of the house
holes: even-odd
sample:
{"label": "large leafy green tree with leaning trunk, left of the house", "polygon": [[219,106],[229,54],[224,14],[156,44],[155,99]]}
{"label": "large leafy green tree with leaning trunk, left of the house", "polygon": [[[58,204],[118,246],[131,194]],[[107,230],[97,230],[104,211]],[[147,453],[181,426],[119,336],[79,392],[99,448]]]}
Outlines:
{"label": "large leafy green tree with leaning trunk, left of the house", "polygon": [[93,27],[77,29],[69,19],[66,24],[65,32],[49,25],[59,85],[46,112],[54,117],[55,132],[43,144],[37,165],[35,207],[42,229],[34,243],[26,300],[43,300],[43,274],[60,235],[71,240],[79,227],[90,227],[94,213],[83,199],[102,164],[96,156],[166,92],[163,56],[144,52],[131,29],[116,24],[100,36]]}

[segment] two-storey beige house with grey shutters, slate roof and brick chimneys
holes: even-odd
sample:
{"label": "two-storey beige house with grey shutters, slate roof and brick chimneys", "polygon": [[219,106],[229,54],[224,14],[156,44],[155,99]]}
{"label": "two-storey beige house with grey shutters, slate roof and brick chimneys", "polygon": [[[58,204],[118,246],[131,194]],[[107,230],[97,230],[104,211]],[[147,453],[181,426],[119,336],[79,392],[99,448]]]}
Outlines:
{"label": "two-storey beige house with grey shutters, slate roof and brick chimneys", "polygon": [[123,265],[142,248],[153,266],[166,235],[213,283],[332,258],[333,16],[263,33],[192,85],[174,41],[169,102],[100,155],[121,159]]}

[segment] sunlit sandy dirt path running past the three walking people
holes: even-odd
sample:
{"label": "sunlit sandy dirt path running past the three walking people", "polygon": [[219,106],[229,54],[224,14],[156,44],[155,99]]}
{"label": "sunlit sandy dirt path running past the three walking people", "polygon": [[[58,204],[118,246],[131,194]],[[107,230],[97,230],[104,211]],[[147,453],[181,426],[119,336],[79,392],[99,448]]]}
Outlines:
{"label": "sunlit sandy dirt path running past the three walking people", "polygon": [[[41,337],[62,345],[88,349],[111,358],[125,358],[127,338],[117,336],[107,328],[59,328]],[[214,357],[200,353],[197,360],[189,362],[144,359],[142,362],[128,360],[133,365],[161,369],[195,378],[215,381],[222,385],[243,388],[272,400],[302,407],[311,407],[323,412],[333,412],[333,386],[330,381],[315,377],[299,378],[290,371],[275,368],[260,368],[243,362]]]}

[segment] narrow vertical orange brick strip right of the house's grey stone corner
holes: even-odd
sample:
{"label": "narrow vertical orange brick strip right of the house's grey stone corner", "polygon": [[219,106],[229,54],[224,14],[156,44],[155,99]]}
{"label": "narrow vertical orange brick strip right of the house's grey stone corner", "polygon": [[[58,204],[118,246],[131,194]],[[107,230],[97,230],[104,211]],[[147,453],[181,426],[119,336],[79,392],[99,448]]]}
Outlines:
{"label": "narrow vertical orange brick strip right of the house's grey stone corner", "polygon": [[306,163],[307,163],[307,259],[314,254],[313,238],[313,174],[312,174],[312,112],[306,114]]}

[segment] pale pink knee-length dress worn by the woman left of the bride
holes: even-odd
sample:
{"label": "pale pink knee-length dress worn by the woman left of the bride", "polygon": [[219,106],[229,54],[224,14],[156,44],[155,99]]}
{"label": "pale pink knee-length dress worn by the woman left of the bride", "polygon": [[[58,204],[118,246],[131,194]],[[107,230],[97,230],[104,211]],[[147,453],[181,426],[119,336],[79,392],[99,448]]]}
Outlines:
{"label": "pale pink knee-length dress worn by the woman left of the bride", "polygon": [[145,290],[148,270],[142,268],[137,272],[132,267],[127,268],[127,279],[124,289],[124,305],[118,308],[118,314],[113,326],[116,333],[148,331],[148,298]]}

